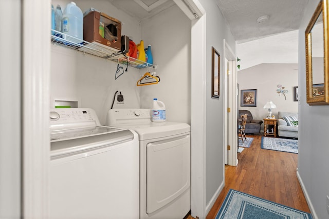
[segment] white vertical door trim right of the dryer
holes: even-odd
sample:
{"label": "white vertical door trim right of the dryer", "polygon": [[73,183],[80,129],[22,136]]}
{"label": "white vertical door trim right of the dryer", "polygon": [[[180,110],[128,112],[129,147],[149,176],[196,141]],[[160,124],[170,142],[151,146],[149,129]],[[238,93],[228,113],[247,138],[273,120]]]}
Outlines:
{"label": "white vertical door trim right of the dryer", "polygon": [[206,218],[207,14],[191,26],[191,215]]}

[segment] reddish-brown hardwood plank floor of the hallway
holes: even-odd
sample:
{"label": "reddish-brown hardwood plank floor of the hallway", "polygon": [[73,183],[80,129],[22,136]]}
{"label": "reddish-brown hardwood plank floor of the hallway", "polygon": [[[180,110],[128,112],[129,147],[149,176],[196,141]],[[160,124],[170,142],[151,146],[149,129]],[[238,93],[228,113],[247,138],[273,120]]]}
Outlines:
{"label": "reddish-brown hardwood plank floor of the hallway", "polygon": [[296,176],[298,155],[261,149],[261,135],[247,137],[253,137],[250,148],[237,154],[236,167],[225,166],[225,187],[206,219],[216,217],[229,189],[310,213]]}

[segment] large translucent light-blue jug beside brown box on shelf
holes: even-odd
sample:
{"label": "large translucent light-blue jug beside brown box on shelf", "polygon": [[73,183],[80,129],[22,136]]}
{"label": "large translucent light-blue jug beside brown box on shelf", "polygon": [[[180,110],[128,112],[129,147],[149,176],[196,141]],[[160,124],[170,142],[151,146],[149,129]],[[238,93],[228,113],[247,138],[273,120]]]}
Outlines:
{"label": "large translucent light-blue jug beside brown box on shelf", "polygon": [[83,41],[83,13],[76,3],[70,2],[66,5],[62,19],[63,33],[74,36],[64,36],[70,42],[82,43]]}

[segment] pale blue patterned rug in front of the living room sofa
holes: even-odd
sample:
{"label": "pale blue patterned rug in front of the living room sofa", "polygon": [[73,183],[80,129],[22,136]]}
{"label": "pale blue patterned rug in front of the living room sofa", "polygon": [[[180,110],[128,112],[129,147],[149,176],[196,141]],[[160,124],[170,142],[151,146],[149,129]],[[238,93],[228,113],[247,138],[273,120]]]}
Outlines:
{"label": "pale blue patterned rug in front of the living room sofa", "polygon": [[275,151],[298,153],[298,140],[262,136],[261,148]]}

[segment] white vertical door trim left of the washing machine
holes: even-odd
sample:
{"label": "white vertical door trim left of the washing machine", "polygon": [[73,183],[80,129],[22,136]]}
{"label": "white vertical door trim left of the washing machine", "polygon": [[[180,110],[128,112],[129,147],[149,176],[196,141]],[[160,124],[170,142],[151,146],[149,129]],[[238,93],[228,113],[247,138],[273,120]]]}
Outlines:
{"label": "white vertical door trim left of the washing machine", "polygon": [[22,218],[49,217],[50,8],[22,1]]}

